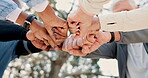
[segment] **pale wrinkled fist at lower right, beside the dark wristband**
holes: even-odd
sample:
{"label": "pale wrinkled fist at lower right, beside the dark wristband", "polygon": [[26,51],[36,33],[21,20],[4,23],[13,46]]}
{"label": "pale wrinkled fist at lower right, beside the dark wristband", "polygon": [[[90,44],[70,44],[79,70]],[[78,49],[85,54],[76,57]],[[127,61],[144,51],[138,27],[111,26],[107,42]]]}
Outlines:
{"label": "pale wrinkled fist at lower right, beside the dark wristband", "polygon": [[110,33],[99,31],[97,34],[88,34],[87,36],[74,39],[74,35],[69,36],[62,47],[63,51],[75,56],[86,56],[95,51],[102,44],[109,42]]}

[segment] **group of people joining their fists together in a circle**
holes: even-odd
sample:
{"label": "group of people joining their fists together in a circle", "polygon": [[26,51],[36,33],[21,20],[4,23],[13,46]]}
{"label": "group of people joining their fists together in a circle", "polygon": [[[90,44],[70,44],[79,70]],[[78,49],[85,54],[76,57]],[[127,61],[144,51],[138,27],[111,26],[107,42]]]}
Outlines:
{"label": "group of people joining their fists together in a circle", "polygon": [[[42,50],[117,59],[120,78],[148,77],[148,5],[116,0],[113,13],[95,16],[109,0],[79,0],[79,8],[65,21],[47,0],[22,0],[42,23],[15,1],[0,0],[0,77],[11,60]],[[68,36],[68,29],[74,34]]]}

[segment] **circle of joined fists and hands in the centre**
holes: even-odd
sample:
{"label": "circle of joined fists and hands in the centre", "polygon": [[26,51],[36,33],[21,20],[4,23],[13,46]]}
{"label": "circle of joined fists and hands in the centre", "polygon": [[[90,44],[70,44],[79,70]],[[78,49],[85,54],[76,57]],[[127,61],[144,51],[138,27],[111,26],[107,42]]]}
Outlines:
{"label": "circle of joined fists and hands in the centre", "polygon": [[[81,9],[70,13],[67,21],[57,16],[52,21],[46,15],[42,17],[43,23],[37,22],[37,27],[26,35],[36,48],[85,56],[110,40],[109,32],[100,30],[99,19],[83,13]],[[74,34],[68,36],[68,30]]]}

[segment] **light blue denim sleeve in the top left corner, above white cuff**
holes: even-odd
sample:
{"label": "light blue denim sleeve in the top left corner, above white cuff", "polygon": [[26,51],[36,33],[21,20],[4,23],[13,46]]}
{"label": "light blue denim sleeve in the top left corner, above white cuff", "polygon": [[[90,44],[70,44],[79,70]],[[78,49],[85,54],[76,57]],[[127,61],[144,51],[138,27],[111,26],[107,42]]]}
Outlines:
{"label": "light blue denim sleeve in the top left corner, above white cuff", "polygon": [[0,20],[5,20],[6,16],[16,8],[17,5],[12,0],[0,0]]}

